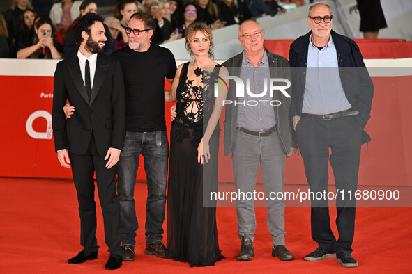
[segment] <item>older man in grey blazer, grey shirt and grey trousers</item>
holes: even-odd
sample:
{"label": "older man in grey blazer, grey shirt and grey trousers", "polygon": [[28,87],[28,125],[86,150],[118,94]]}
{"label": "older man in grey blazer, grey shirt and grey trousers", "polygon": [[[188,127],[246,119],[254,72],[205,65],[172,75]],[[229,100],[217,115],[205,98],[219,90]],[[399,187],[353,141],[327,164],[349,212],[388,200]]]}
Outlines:
{"label": "older man in grey blazer, grey shirt and grey trousers", "polygon": [[[264,90],[265,81],[270,78],[290,79],[289,62],[264,48],[264,35],[257,22],[243,22],[239,26],[238,40],[245,51],[222,64],[231,71],[231,75],[241,78],[243,83],[249,82],[254,96]],[[260,104],[254,105],[247,102],[257,98],[247,92],[245,97],[237,97],[236,93],[236,85],[231,83],[227,100],[238,103],[226,104],[224,126],[224,156],[232,152],[236,191],[254,191],[260,163],[267,197],[269,193],[283,193],[285,158],[296,153],[296,143],[291,140],[290,99],[280,92],[274,92],[273,97],[266,92],[264,97],[259,98]],[[281,104],[263,104],[263,101],[273,100]],[[295,257],[285,246],[284,206],[284,200],[268,198],[267,223],[273,241],[272,256],[290,261]],[[256,228],[254,200],[238,199],[236,212],[238,237],[241,239],[237,259],[250,261],[254,257]]]}

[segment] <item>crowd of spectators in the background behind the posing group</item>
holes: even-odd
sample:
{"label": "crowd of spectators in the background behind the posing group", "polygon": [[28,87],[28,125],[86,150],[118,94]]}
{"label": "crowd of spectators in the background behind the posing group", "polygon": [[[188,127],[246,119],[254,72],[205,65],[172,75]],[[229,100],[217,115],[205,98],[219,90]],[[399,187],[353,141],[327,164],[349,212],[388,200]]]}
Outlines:
{"label": "crowd of spectators in the background behind the posing group", "polygon": [[[296,3],[304,0],[277,0]],[[275,0],[121,0],[114,17],[105,18],[105,53],[128,45],[130,15],[144,11],[155,18],[152,42],[162,44],[184,38],[192,22],[211,29],[240,24],[251,17],[284,13]],[[71,30],[79,17],[98,13],[96,0],[13,0],[0,14],[0,58],[67,58],[77,49]]]}

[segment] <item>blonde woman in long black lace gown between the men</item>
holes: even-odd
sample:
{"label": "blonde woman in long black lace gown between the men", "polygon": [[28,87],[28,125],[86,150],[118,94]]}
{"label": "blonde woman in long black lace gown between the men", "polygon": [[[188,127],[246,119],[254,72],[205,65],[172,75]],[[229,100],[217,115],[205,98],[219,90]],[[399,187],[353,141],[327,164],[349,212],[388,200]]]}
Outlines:
{"label": "blonde woman in long black lace gown between the men", "polygon": [[[194,61],[178,67],[165,99],[176,104],[171,124],[167,191],[166,257],[190,266],[214,266],[224,259],[218,242],[215,202],[219,118],[227,89],[215,82],[227,69],[211,59],[212,32],[201,22],[186,29],[186,49]],[[225,87],[226,88],[226,87]]]}

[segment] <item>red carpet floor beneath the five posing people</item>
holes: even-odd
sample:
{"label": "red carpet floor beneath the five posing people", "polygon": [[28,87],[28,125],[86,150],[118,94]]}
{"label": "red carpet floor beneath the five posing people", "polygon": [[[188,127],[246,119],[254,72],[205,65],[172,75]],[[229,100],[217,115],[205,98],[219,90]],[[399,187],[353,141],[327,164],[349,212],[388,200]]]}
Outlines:
{"label": "red carpet floor beneath the five posing people", "polygon": [[[104,271],[109,253],[104,242],[100,205],[98,259],[80,265],[67,264],[67,259],[82,248],[72,181],[0,178],[0,193],[0,273]],[[357,209],[353,257],[358,260],[358,268],[343,268],[335,259],[303,260],[316,248],[310,237],[308,208],[287,208],[285,212],[287,248],[296,260],[280,261],[271,257],[266,209],[257,208],[255,257],[252,261],[236,261],[240,248],[236,209],[219,208],[220,248],[227,259],[214,267],[190,268],[185,263],[144,255],[146,184],[137,184],[136,197],[141,227],[137,231],[136,259],[123,262],[117,273],[412,273],[411,208]],[[335,213],[331,210],[331,216]]]}

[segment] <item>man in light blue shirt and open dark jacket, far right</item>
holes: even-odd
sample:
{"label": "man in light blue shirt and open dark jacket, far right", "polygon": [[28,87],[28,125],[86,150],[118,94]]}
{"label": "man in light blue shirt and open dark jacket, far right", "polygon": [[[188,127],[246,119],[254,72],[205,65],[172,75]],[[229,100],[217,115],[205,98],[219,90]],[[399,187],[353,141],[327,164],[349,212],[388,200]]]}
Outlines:
{"label": "man in light blue shirt and open dark jacket, far right", "polygon": [[342,266],[356,267],[351,256],[356,201],[348,194],[358,186],[360,146],[370,140],[363,128],[370,117],[374,86],[358,45],[332,31],[332,21],[328,5],[311,6],[307,23],[312,31],[296,39],[289,51],[290,114],[310,191],[328,191],[330,161],[338,194],[339,239],[330,229],[327,198],[312,198],[312,239],[318,248],[304,259],[336,257]]}

